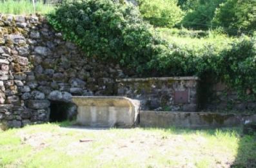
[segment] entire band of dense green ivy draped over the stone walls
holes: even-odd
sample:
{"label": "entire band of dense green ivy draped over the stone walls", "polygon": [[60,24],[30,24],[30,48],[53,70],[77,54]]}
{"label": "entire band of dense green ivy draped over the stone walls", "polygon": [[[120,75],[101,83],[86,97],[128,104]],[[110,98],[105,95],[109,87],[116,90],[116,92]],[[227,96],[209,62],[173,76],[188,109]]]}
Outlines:
{"label": "entire band of dense green ivy draped over the stone walls", "polygon": [[[241,37],[232,44],[200,48],[161,41],[134,6],[110,0],[64,3],[48,20],[64,38],[87,56],[118,61],[141,75],[212,75],[241,95],[256,96],[256,39]],[[224,49],[223,49],[224,48]]]}

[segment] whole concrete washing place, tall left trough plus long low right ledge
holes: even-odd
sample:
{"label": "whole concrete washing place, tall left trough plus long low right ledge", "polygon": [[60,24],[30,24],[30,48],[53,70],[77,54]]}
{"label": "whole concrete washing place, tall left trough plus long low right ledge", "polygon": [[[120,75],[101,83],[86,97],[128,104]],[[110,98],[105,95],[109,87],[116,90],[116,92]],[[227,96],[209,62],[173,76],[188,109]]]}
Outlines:
{"label": "whole concrete washing place, tall left trough plus long low right ledge", "polygon": [[230,127],[256,121],[256,115],[139,111],[140,101],[126,97],[72,97],[77,124],[92,127]]}

